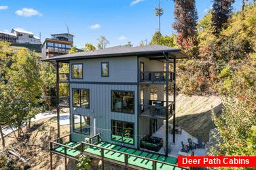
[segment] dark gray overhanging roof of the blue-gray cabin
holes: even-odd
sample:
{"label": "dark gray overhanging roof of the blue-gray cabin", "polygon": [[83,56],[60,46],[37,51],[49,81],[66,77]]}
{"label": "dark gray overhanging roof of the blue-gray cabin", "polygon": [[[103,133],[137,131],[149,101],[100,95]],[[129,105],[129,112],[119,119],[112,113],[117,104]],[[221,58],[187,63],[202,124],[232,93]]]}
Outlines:
{"label": "dark gray overhanging roof of the blue-gray cabin", "polygon": [[48,62],[65,62],[68,60],[86,59],[86,58],[109,58],[109,57],[124,57],[124,56],[145,56],[147,58],[164,59],[164,54],[169,54],[171,58],[187,58],[187,55],[173,47],[163,45],[147,45],[143,47],[124,47],[116,46],[106,49],[98,49],[95,51],[78,52],[75,54],[66,54],[56,56],[54,58],[43,59]]}

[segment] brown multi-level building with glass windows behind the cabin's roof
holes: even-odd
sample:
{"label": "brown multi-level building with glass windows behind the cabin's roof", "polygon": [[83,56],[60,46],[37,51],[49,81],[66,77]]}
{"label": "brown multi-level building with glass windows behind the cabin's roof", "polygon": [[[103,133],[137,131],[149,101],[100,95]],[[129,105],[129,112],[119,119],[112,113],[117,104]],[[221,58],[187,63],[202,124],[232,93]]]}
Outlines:
{"label": "brown multi-level building with glass windows behind the cabin's roof", "polygon": [[45,39],[41,46],[42,58],[52,58],[68,54],[73,46],[73,35],[69,33],[54,34],[52,38]]}

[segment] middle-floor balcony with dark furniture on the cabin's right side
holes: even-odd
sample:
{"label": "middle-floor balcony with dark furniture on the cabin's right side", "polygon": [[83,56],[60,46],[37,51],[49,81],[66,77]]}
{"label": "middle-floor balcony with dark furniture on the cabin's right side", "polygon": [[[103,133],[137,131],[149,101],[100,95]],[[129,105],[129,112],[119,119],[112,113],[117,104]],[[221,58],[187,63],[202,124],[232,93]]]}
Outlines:
{"label": "middle-floor balcony with dark furniture on the cabin's right side", "polygon": [[[174,102],[168,104],[168,117],[172,116]],[[149,104],[140,105],[140,115],[153,119],[166,119],[166,101],[149,100]]]}

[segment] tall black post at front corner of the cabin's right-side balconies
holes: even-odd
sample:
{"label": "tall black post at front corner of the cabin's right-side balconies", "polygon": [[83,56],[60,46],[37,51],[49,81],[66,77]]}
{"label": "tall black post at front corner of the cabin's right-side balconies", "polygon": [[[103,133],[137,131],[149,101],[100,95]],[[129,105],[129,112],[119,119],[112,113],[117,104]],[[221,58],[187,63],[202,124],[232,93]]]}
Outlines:
{"label": "tall black post at front corner of the cabin's right-side balconies", "polygon": [[168,129],[169,129],[169,114],[168,114],[168,108],[169,108],[169,56],[168,54],[166,55],[166,137],[165,137],[165,155],[168,156],[168,139],[169,139],[169,133],[168,133]]}

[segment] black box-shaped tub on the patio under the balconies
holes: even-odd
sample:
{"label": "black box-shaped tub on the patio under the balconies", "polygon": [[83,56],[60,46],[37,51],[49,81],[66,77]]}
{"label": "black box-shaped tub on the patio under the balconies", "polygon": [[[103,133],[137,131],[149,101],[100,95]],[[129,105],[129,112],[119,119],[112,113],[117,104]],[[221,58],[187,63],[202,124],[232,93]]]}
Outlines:
{"label": "black box-shaped tub on the patio under the balconies", "polygon": [[141,148],[158,152],[163,146],[163,139],[160,137],[149,137],[146,135],[141,139]]}

